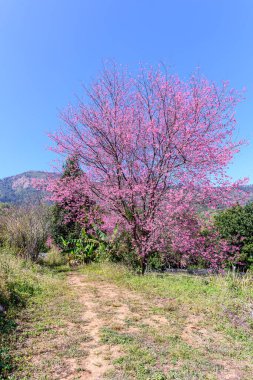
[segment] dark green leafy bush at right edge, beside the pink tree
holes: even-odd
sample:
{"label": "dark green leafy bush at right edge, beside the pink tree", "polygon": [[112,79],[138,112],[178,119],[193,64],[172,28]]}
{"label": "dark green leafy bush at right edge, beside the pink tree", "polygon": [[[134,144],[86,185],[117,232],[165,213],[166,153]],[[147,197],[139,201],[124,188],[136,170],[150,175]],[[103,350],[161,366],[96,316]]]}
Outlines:
{"label": "dark green leafy bush at right edge, beside the pink tree", "polygon": [[239,266],[253,266],[253,203],[235,205],[215,216],[215,225],[222,238],[239,249]]}

